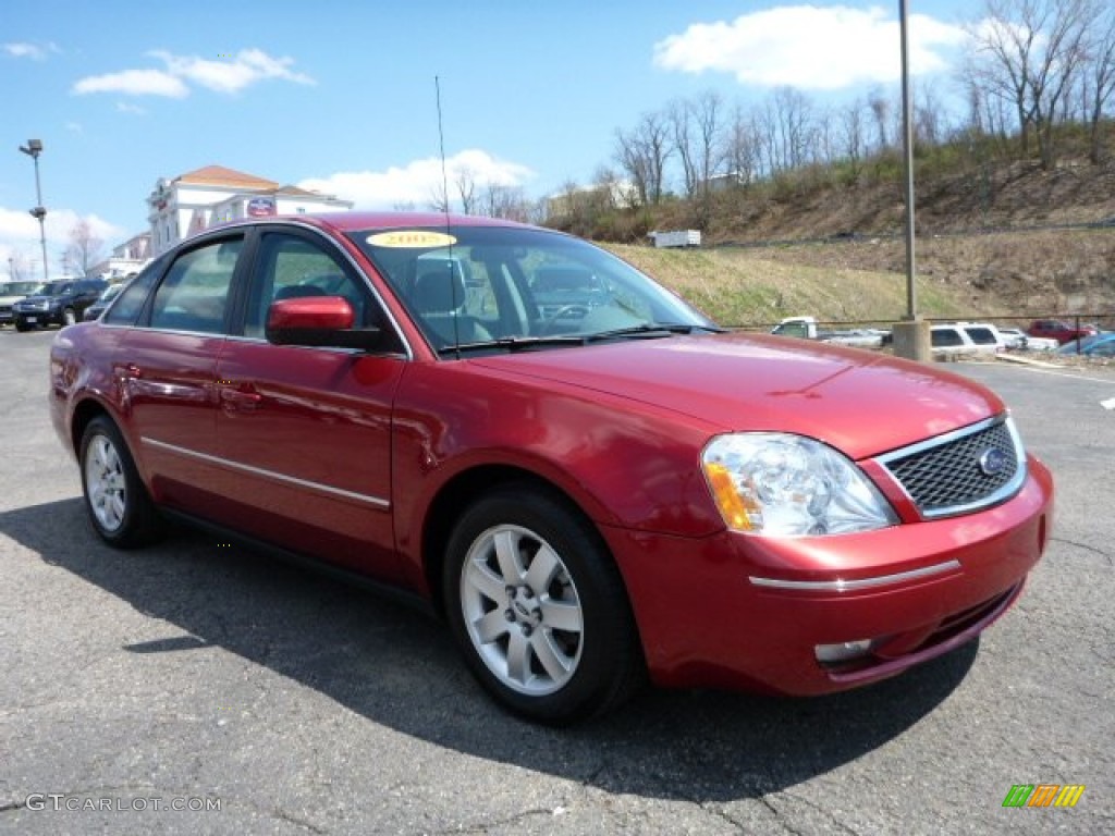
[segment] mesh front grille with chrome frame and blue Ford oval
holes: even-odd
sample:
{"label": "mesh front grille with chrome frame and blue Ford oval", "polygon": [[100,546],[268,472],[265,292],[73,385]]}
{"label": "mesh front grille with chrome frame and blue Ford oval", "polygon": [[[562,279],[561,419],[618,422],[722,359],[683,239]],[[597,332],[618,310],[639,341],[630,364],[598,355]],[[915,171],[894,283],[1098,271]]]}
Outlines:
{"label": "mesh front grille with chrome frame and blue Ford oval", "polygon": [[929,518],[1004,502],[1026,478],[1026,457],[1010,419],[966,427],[879,460]]}

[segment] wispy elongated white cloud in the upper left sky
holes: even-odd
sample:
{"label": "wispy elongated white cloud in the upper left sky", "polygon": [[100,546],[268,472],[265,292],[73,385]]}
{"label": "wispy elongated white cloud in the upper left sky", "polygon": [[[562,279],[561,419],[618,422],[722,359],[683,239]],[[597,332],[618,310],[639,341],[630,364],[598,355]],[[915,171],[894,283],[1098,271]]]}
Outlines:
{"label": "wispy elongated white cloud in the upper left sky", "polygon": [[130,69],[89,76],[74,85],[74,93],[123,93],[181,99],[190,95],[192,86],[234,94],[272,78],[301,85],[316,84],[306,74],[291,69],[293,58],[272,58],[261,49],[242,49],[235,56],[217,60],[177,56],[164,50],[147,55],[162,60],[166,69]]}

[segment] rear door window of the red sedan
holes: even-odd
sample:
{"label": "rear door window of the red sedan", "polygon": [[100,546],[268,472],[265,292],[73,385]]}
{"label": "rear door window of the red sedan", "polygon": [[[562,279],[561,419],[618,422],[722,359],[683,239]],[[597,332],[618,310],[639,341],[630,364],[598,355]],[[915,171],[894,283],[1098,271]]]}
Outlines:
{"label": "rear door window of the red sedan", "polygon": [[178,256],[155,291],[151,327],[223,333],[229,288],[242,247],[242,239],[225,239]]}

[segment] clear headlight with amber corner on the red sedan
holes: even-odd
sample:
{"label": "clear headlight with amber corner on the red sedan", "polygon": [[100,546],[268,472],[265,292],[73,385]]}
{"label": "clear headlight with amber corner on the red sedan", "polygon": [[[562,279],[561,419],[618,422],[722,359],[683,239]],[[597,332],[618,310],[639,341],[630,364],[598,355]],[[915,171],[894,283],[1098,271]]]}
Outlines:
{"label": "clear headlight with amber corner on the red sedan", "polygon": [[729,528],[767,536],[850,534],[894,525],[878,488],[846,457],[804,436],[714,438],[705,478]]}

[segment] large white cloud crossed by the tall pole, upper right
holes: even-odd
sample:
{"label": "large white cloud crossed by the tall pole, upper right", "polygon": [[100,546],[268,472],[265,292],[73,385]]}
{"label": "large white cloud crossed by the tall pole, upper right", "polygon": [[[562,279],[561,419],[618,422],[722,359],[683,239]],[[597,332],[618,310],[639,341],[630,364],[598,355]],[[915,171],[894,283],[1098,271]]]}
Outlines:
{"label": "large white cloud crossed by the tall pole, upper right", "polygon": [[[948,67],[944,50],[964,41],[960,27],[910,16],[910,71]],[[694,23],[655,45],[655,64],[699,75],[730,72],[743,85],[835,90],[901,75],[899,21],[882,7],[783,6],[731,22]]]}

